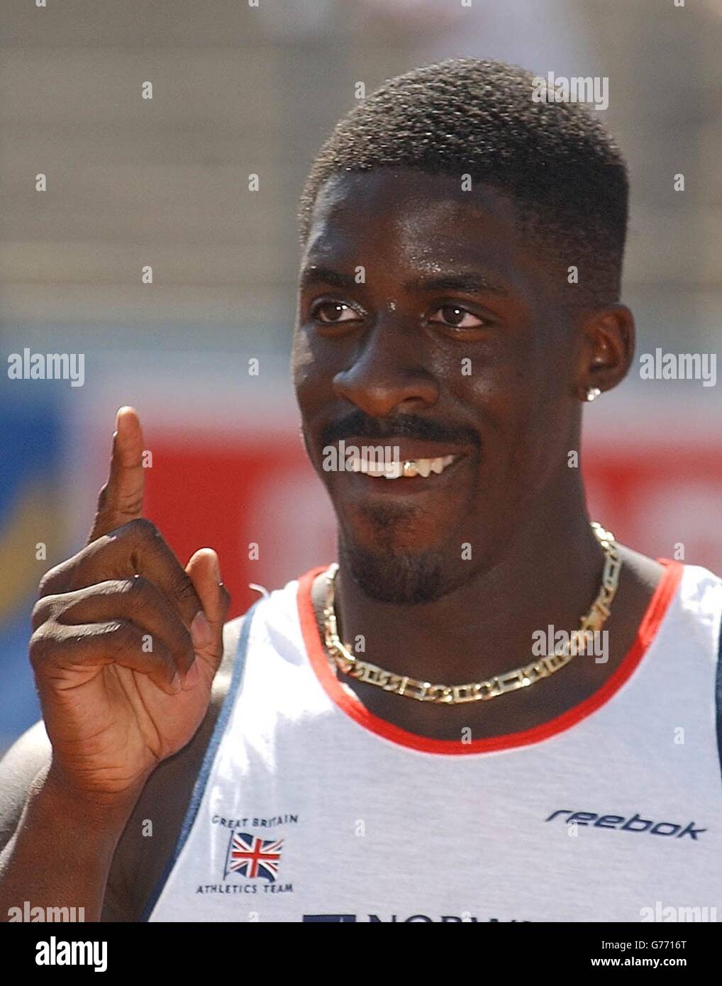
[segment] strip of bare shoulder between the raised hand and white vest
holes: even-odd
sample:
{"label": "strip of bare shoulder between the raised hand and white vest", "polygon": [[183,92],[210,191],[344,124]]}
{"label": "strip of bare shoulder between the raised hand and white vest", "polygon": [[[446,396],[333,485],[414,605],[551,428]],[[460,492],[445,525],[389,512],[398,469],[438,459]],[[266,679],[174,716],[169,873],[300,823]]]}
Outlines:
{"label": "strip of bare shoulder between the raised hand and white vest", "polygon": [[118,841],[102,921],[139,921],[171,859],[213,729],[228,694],[245,617],[223,630],[223,660],[205,719],[190,742],[151,774]]}

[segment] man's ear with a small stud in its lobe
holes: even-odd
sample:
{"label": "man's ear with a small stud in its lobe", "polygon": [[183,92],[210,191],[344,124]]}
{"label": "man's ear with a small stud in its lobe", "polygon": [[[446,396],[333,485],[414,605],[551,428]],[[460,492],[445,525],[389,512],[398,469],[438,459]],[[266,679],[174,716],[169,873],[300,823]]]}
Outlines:
{"label": "man's ear with a small stud in its lobe", "polygon": [[634,355],[634,316],[625,305],[588,311],[582,316],[576,389],[587,400],[591,388],[605,392],[626,377]]}

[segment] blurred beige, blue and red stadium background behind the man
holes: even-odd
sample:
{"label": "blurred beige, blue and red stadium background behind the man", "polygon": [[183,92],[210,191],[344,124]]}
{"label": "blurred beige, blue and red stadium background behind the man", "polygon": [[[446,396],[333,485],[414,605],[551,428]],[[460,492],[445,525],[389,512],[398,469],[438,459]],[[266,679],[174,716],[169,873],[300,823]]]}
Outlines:
{"label": "blurred beige, blue and red stadium background behind the man", "polygon": [[[249,583],[332,559],[288,370],[296,203],[359,82],[370,93],[461,56],[609,77],[600,115],[631,170],[637,352],[711,354],[720,50],[722,0],[3,0],[2,363],[83,353],[85,383],[0,374],[0,751],[38,716],[37,582],[85,543],[120,404],[139,409],[152,453],[147,515],[183,562],[219,550],[234,615]],[[722,574],[720,387],[632,372],[585,415],[592,516]]]}

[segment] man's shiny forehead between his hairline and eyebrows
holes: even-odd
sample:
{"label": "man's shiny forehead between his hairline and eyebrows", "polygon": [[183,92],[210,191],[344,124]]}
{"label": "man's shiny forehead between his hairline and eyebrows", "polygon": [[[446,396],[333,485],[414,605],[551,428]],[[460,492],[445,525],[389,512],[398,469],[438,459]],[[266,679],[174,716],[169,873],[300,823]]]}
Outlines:
{"label": "man's shiny forehead between his hairline and eyebrows", "polygon": [[305,249],[307,262],[384,256],[414,267],[522,262],[516,212],[503,193],[463,187],[462,175],[382,168],[334,175],[319,191]]}

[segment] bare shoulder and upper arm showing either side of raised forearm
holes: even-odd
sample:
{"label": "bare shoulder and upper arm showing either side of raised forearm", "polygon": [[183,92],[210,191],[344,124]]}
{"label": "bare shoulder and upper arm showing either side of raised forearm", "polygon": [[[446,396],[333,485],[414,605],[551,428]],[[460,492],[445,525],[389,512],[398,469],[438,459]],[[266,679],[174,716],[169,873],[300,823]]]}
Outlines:
{"label": "bare shoulder and upper arm showing either side of raised forearm", "polygon": [[[195,779],[228,694],[244,623],[239,616],[223,630],[223,660],[213,681],[205,719],[190,742],[148,779],[117,844],[108,875],[103,921],[138,921],[171,857]],[[0,850],[20,821],[28,791],[50,761],[51,747],[40,721],[0,761]]]}

